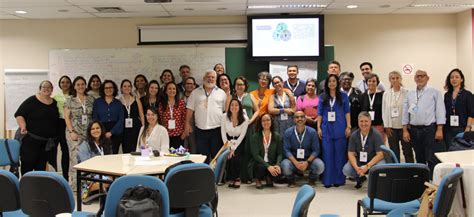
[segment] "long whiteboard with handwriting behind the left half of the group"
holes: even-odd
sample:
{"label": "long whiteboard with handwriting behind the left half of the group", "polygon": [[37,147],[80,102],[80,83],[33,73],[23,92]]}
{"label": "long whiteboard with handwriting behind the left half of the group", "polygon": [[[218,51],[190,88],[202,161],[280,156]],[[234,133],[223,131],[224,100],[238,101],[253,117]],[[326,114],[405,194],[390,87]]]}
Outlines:
{"label": "long whiteboard with handwriting behind the left half of the group", "polygon": [[144,74],[148,81],[159,81],[164,69],[171,69],[176,82],[181,81],[179,66],[191,67],[192,76],[202,82],[204,72],[216,63],[225,65],[224,47],[155,47],[117,49],[57,49],[49,52],[50,80],[57,85],[62,75],[71,79],[98,74],[120,85],[123,79],[133,82],[135,75]]}

